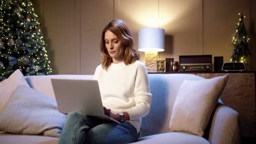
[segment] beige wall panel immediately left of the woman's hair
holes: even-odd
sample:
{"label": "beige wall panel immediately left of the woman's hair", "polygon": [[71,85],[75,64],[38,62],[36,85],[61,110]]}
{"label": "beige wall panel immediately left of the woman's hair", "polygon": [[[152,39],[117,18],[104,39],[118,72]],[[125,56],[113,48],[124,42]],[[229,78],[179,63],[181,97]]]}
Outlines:
{"label": "beige wall panel immediately left of the woman's hair", "polygon": [[81,74],[94,74],[101,63],[102,30],[114,19],[114,1],[80,0],[80,13]]}

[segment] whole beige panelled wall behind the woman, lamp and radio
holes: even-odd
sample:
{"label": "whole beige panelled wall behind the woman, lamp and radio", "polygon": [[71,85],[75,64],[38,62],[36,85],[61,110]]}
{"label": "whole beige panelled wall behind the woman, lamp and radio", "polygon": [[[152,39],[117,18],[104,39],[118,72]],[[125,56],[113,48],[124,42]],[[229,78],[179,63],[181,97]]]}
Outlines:
{"label": "whole beige panelled wall behind the woman, lamp and radio", "polygon": [[[159,59],[173,57],[178,61],[179,55],[212,55],[223,56],[228,62],[241,12],[247,16],[245,25],[254,55],[248,68],[256,70],[256,3],[251,0],[34,0],[34,7],[53,74],[94,74],[101,61],[102,29],[113,18],[129,25],[136,49],[139,28],[164,28],[165,51],[159,52]],[[139,53],[144,62],[144,53]]]}

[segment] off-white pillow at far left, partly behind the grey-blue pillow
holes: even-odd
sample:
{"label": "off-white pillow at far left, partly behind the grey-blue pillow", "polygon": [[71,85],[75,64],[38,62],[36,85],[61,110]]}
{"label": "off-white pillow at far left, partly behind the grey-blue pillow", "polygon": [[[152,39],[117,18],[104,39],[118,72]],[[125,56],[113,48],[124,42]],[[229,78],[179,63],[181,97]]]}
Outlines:
{"label": "off-white pillow at far left, partly behind the grey-blue pillow", "polygon": [[19,69],[15,70],[14,73],[8,77],[8,79],[0,82],[0,113],[2,113],[4,107],[8,103],[11,94],[14,92],[18,85],[25,85],[30,87]]}

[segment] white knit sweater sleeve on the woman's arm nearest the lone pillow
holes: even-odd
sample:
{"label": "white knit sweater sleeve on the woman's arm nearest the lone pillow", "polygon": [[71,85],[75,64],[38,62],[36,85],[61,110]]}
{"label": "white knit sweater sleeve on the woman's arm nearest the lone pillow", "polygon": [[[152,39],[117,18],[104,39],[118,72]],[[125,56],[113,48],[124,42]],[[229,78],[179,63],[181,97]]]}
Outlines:
{"label": "white knit sweater sleeve on the woman's arm nearest the lone pillow", "polygon": [[147,116],[150,110],[152,94],[150,93],[148,74],[144,64],[138,65],[134,94],[135,106],[126,110],[131,121]]}

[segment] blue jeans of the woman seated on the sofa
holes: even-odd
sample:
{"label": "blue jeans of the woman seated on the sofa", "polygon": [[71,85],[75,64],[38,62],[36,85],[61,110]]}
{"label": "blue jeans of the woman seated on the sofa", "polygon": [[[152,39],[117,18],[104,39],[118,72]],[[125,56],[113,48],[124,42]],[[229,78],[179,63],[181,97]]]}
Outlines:
{"label": "blue jeans of the woman seated on the sofa", "polygon": [[97,117],[70,112],[59,138],[60,144],[131,143],[139,134],[129,122],[115,123]]}

